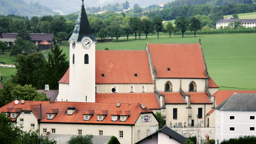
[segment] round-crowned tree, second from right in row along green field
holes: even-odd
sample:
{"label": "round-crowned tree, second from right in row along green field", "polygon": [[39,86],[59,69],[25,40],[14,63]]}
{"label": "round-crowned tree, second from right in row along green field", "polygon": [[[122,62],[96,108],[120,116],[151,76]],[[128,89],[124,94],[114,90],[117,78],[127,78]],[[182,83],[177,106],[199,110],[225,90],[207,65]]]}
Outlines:
{"label": "round-crowned tree, second from right in row along green field", "polygon": [[178,17],[177,20],[174,22],[175,28],[177,31],[181,31],[182,38],[184,37],[184,32],[188,29],[189,23],[185,17]]}

